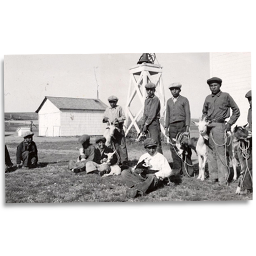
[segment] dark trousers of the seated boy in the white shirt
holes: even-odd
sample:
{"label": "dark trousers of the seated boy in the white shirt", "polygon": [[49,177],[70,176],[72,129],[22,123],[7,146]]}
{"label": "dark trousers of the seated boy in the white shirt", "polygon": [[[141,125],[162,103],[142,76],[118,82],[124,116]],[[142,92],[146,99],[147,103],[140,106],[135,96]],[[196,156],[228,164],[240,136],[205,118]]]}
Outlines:
{"label": "dark trousers of the seated boy in the white shirt", "polygon": [[133,173],[132,170],[123,170],[121,177],[127,186],[139,190],[143,195],[156,190],[162,184],[162,181],[156,176],[144,179],[139,174]]}

